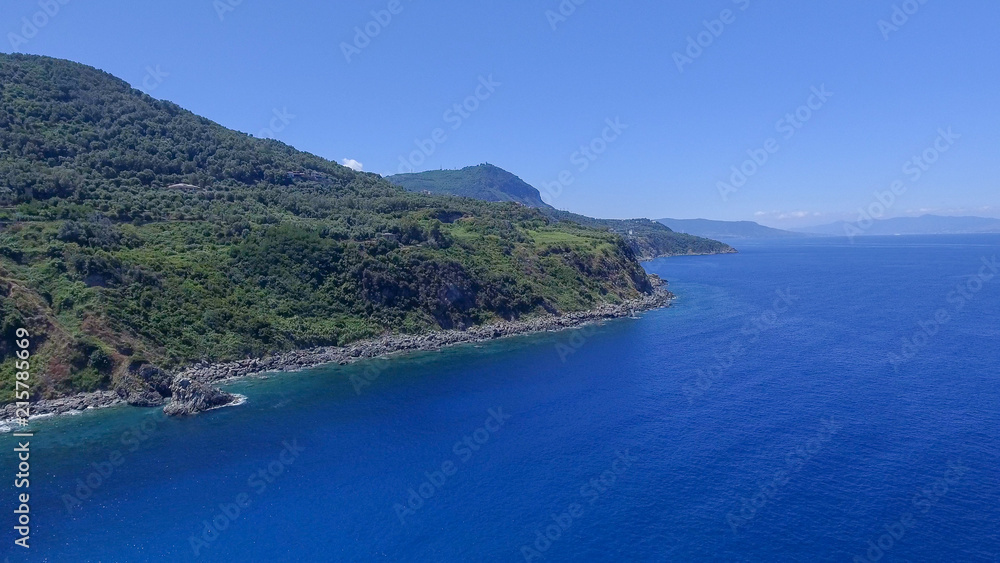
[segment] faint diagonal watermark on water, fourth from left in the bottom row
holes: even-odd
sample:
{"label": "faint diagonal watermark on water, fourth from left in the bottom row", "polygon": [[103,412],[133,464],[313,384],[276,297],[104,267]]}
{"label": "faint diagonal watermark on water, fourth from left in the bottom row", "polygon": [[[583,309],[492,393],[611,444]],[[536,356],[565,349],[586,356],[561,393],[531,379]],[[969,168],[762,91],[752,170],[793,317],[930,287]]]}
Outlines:
{"label": "faint diagonal watermark on water, fourth from left in the bottom row", "polygon": [[561,513],[551,513],[549,519],[535,529],[535,540],[521,546],[520,553],[524,560],[531,563],[544,559],[552,545],[562,539],[577,520],[586,515],[589,506],[606,496],[638,459],[630,455],[627,449],[624,452],[616,451],[608,469],[580,486],[580,500],[571,502]]}

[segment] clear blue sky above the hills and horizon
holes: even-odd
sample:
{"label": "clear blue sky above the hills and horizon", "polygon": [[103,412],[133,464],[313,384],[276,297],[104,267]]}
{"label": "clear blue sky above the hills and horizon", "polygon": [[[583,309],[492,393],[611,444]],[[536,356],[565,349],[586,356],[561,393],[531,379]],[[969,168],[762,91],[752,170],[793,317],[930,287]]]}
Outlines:
{"label": "clear blue sky above the hills and horizon", "polygon": [[366,171],[489,162],[588,215],[790,227],[896,181],[886,216],[1000,216],[998,23],[995,0],[8,0],[0,50]]}

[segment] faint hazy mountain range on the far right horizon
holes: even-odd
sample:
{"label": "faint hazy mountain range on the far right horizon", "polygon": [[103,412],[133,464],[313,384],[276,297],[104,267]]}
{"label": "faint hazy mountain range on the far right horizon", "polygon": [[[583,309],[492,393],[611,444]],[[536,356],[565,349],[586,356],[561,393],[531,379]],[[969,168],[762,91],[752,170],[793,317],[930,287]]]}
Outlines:
{"label": "faint hazy mountain range on the far right horizon", "polygon": [[1000,219],[987,217],[944,217],[923,215],[921,217],[894,217],[874,221],[865,225],[839,221],[829,225],[796,229],[802,233],[819,235],[949,235],[1000,233]]}

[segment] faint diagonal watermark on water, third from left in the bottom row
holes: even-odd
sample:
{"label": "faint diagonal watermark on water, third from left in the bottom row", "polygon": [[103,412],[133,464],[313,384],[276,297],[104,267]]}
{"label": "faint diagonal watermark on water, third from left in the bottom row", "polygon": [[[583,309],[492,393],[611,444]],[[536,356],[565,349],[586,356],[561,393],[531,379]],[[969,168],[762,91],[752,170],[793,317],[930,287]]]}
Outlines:
{"label": "faint diagonal watermark on water, third from left in the bottom row", "polygon": [[510,415],[503,412],[503,408],[496,407],[487,411],[489,415],[483,425],[470,434],[466,434],[461,440],[455,442],[451,451],[454,458],[448,458],[435,466],[430,471],[424,472],[425,480],[416,487],[410,487],[406,500],[397,502],[392,506],[392,511],[399,518],[399,523],[406,525],[408,517],[416,515],[428,500],[440,491],[451,477],[454,477],[458,470],[467,464],[470,459],[499,432]]}

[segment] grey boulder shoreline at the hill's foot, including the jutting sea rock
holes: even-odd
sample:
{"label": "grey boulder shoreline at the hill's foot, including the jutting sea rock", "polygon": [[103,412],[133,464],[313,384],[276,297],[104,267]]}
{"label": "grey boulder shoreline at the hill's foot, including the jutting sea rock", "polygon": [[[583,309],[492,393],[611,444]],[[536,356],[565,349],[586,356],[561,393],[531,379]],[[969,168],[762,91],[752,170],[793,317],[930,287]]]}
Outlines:
{"label": "grey boulder shoreline at the hill's foot, including the jutting sea rock", "polygon": [[[484,342],[508,336],[548,332],[579,327],[607,319],[633,316],[637,312],[658,309],[670,305],[674,295],[666,289],[666,284],[655,276],[654,291],[638,299],[617,305],[602,305],[589,311],[549,315],[518,321],[501,321],[489,325],[474,326],[467,330],[441,330],[420,335],[393,334],[381,338],[365,340],[340,347],[319,347],[275,354],[266,358],[253,358],[235,362],[209,364],[201,363],[182,370],[169,383],[171,399],[166,403],[165,412],[171,415],[192,415],[204,410],[237,404],[241,398],[220,391],[212,384],[265,372],[300,371],[325,364],[346,365],[368,358],[421,350],[439,350],[456,344]],[[155,370],[156,373],[159,370]],[[166,374],[164,374],[166,375]],[[157,382],[163,387],[166,382]],[[124,390],[80,393],[72,397],[42,399],[32,402],[32,418],[58,414],[71,414],[85,409],[107,408],[120,404],[136,406],[160,406],[163,400],[156,397],[153,387],[140,391]],[[160,393],[164,391],[161,389]],[[0,428],[9,428],[15,418],[15,405],[0,407]]]}

